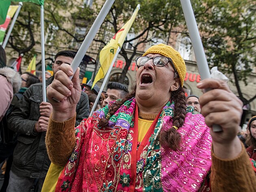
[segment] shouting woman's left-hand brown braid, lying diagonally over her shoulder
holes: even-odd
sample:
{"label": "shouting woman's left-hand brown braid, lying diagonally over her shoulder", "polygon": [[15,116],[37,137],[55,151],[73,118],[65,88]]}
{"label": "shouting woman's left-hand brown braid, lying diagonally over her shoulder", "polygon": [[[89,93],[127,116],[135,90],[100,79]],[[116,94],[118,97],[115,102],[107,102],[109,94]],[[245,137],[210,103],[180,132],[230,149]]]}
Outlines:
{"label": "shouting woman's left-hand brown braid, lying diagonally over her shoulder", "polygon": [[[110,114],[110,116],[115,114],[115,112],[121,107],[121,105],[124,104],[125,101],[131,99],[132,97],[135,97],[135,92],[136,92],[136,86],[133,88],[131,93],[129,93],[128,95],[126,95],[126,97],[124,97],[124,99],[122,99],[121,101],[117,101],[116,103],[113,103],[108,110],[108,113]],[[108,120],[109,119],[102,117],[99,121],[99,126],[106,127],[108,125]]]}

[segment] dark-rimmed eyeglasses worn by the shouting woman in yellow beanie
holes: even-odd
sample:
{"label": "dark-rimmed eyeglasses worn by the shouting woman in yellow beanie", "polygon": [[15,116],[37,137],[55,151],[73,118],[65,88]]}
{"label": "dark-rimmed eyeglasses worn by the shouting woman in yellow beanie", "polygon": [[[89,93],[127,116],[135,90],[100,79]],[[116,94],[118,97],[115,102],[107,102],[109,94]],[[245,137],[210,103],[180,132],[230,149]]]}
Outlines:
{"label": "dark-rimmed eyeglasses worn by the shouting woman in yellow beanie", "polygon": [[153,60],[153,64],[156,67],[164,67],[167,65],[167,63],[171,62],[172,67],[174,68],[174,71],[176,72],[176,69],[174,67],[174,63],[172,62],[171,58],[169,57],[164,57],[164,56],[158,56],[158,57],[147,57],[147,56],[141,56],[137,57],[135,59],[135,62],[139,67],[144,66],[150,59]]}

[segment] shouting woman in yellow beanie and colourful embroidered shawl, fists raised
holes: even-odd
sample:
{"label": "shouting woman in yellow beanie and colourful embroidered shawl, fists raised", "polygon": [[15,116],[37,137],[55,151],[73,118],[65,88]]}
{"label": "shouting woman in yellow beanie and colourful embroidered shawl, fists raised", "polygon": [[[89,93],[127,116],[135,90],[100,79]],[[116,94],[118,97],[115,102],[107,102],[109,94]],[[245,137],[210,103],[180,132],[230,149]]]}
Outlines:
{"label": "shouting woman in yellow beanie and colourful embroidered shawl, fists raised", "polygon": [[[226,82],[197,84],[212,88],[200,97],[199,114],[186,108],[186,66],[176,50],[154,45],[135,61],[132,93],[76,128],[79,70],[63,64],[56,73],[47,88],[53,110],[46,147],[50,160],[65,167],[55,191],[256,191],[236,136],[243,104]],[[215,123],[222,132],[212,131]]]}

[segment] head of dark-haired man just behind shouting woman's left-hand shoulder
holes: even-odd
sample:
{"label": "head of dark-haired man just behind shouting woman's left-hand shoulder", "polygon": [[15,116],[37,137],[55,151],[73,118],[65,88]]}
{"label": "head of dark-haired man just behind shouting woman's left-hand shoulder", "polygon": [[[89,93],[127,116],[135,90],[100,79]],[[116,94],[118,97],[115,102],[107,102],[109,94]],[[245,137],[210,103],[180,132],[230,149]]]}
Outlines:
{"label": "head of dark-haired man just behind shouting woman's left-hand shoulder", "polygon": [[117,99],[123,99],[127,94],[127,88],[118,82],[111,82],[107,85],[107,91],[103,100],[103,107],[105,107],[110,101]]}

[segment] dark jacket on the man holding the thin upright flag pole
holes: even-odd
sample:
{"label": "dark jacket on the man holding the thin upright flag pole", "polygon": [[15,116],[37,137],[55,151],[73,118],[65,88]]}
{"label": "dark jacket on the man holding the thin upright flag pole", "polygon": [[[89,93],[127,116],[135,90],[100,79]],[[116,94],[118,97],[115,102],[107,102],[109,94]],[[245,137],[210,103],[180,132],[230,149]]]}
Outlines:
{"label": "dark jacket on the man holding the thin upright flag pole", "polygon": [[[54,76],[50,77],[46,86],[51,84],[53,79]],[[42,83],[31,85],[8,119],[9,129],[19,133],[11,170],[20,176],[44,178],[50,166],[45,144],[46,132],[36,133],[33,130],[40,116],[42,92]],[[82,92],[76,106],[76,126],[88,116],[88,96]]]}

